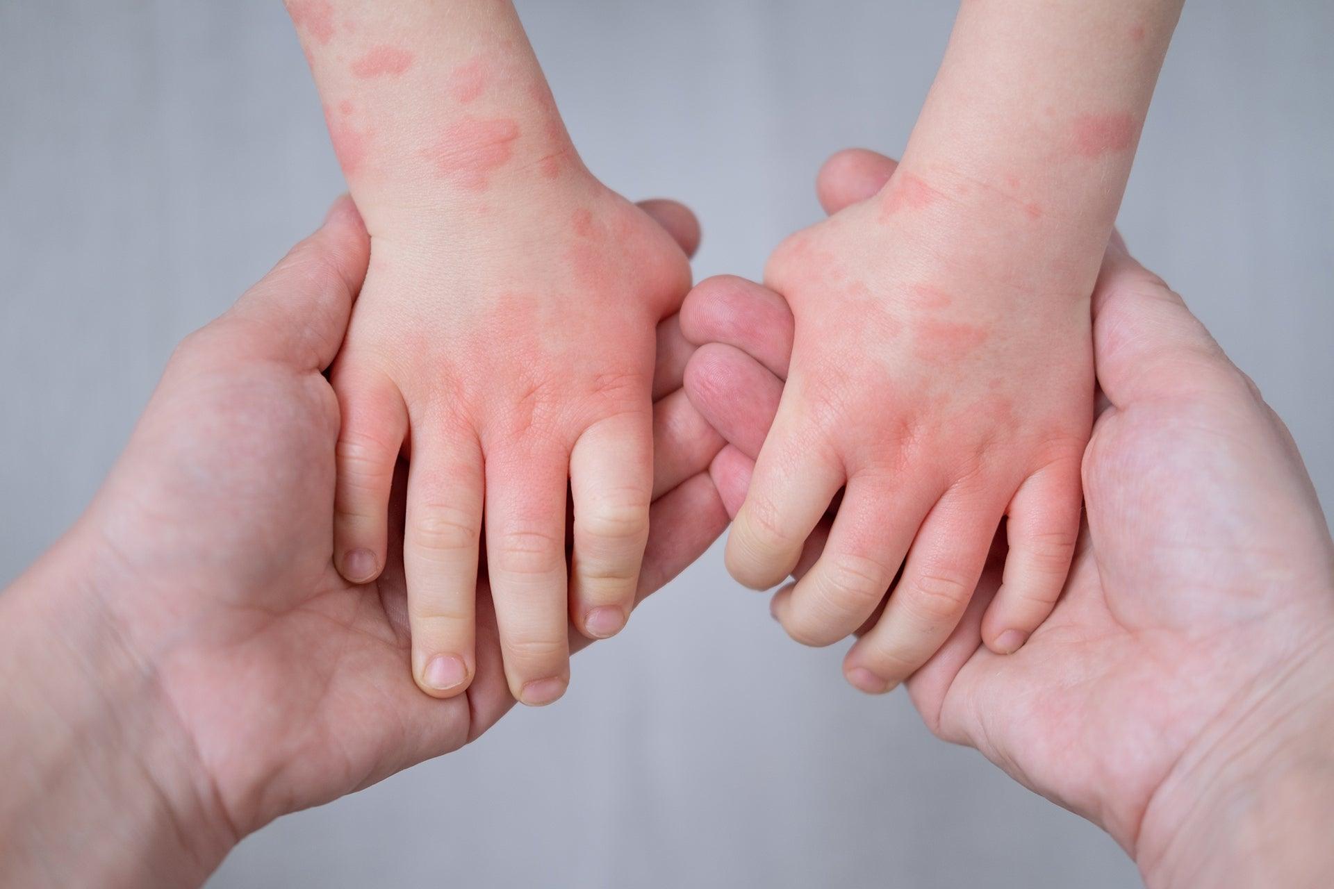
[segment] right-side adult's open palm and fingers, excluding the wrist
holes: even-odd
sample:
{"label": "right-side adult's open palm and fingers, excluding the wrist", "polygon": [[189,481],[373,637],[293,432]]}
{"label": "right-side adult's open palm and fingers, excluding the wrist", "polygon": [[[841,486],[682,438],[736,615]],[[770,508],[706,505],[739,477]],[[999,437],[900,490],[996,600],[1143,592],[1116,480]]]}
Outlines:
{"label": "right-side adult's open palm and fingers, excluding the wrist", "polygon": [[[890,172],[886,159],[839,156],[822,173],[822,199],[858,200]],[[772,321],[772,295],[732,288],[724,305],[727,292],[702,287],[682,324],[695,343],[728,344],[699,351],[687,389],[734,441],[714,474],[735,509],[758,441],[718,419],[743,400],[767,409],[758,425],[772,417],[791,320]],[[1334,626],[1334,548],[1282,423],[1119,239],[1094,308],[1110,404],[1085,457],[1087,521],[1063,596],[1017,653],[988,650],[980,625],[1000,582],[995,548],[967,616],[907,685],[934,732],[1135,852],[1169,776],[1271,694],[1282,662],[1330,646],[1321,628]],[[820,545],[816,534],[799,572]],[[1157,821],[1170,832],[1179,814]]]}

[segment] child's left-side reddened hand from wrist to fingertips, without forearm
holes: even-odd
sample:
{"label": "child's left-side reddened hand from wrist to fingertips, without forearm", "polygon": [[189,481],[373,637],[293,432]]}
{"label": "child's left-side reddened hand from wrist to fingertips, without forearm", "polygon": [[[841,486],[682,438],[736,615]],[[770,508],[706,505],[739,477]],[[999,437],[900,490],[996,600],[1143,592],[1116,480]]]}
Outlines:
{"label": "child's left-side reddened hand from wrist to fingertips, without forearm", "polygon": [[648,533],[655,327],[690,268],[578,161],[534,173],[496,183],[482,212],[372,233],[332,371],[336,564],[355,581],[384,565],[402,449],[412,669],[442,697],[475,670],[483,513],[506,676],[526,704],[564,692],[568,618],[592,637],[623,626]]}

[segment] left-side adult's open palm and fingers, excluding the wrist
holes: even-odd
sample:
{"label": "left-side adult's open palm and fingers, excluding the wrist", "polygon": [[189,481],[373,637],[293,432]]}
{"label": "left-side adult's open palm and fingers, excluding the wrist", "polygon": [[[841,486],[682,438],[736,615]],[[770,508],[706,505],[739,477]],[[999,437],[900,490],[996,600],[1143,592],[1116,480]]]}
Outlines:
{"label": "left-side adult's open palm and fingers, excluding the wrist", "polygon": [[[692,217],[663,203],[647,209],[691,249]],[[209,814],[235,834],[221,848],[454,750],[514,704],[484,580],[478,678],[466,696],[436,700],[411,676],[402,549],[364,586],[331,561],[339,412],[323,371],[367,261],[366,231],[344,200],[192,335],[73,536],[95,541],[100,573],[117,581],[105,609],[171,705]],[[662,454],[640,596],[727,521],[707,474],[722,441],[679,392],[687,352],[675,319],[660,339],[655,391],[676,392],[656,405]]]}

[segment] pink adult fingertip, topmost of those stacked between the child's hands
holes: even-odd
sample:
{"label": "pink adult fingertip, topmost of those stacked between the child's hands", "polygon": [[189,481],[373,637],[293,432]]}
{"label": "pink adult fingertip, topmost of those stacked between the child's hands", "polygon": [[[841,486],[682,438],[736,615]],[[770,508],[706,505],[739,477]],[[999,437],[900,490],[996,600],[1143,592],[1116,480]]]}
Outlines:
{"label": "pink adult fingertip, topmost of those stacked between the child's hands", "polygon": [[680,329],[695,345],[726,343],[752,355],[779,379],[787,379],[792,353],[792,312],[763,284],[719,275],[695,285],[680,309]]}

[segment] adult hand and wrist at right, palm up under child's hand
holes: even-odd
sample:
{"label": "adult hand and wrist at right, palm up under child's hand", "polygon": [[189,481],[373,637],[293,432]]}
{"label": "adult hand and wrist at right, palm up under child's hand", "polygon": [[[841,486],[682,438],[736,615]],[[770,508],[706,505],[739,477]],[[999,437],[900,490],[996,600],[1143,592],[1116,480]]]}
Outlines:
{"label": "adult hand and wrist at right, palm up under child's hand", "polygon": [[[868,152],[835,156],[823,203],[867,197],[892,169]],[[998,544],[967,617],[908,692],[936,734],[1102,825],[1153,885],[1327,877],[1334,544],[1310,478],[1254,384],[1119,237],[1093,308],[1103,408],[1062,598],[1019,652],[982,645]],[[714,477],[735,510],[778,405],[791,319],[776,295],[715,279],[682,325],[714,343],[691,360],[687,392],[734,443]],[[798,573],[822,533],[827,521]]]}

